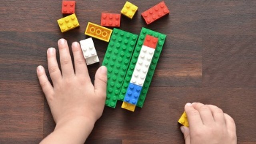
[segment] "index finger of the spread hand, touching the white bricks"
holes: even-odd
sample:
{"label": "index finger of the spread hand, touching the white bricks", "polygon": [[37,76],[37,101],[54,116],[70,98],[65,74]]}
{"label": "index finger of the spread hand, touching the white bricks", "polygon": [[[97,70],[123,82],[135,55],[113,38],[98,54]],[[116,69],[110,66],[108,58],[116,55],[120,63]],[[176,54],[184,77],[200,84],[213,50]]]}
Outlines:
{"label": "index finger of the spread hand, touching the white bricks", "polygon": [[74,55],[75,73],[77,76],[86,76],[86,79],[90,79],[87,66],[82,54],[82,49],[78,42],[72,43],[72,51]]}

